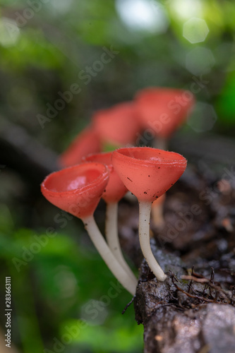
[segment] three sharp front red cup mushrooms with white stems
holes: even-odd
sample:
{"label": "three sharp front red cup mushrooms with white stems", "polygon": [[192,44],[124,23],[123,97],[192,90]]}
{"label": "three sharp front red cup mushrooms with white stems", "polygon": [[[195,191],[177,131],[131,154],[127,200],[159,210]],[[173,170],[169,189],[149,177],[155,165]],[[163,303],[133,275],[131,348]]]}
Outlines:
{"label": "three sharp front red cup mushrooms with white stems", "polygon": [[[119,148],[112,153],[90,155],[87,162],[49,174],[42,194],[49,202],[80,218],[107,266],[128,292],[135,294],[137,280],[121,253],[117,232],[117,203],[127,190],[139,201],[139,237],[150,269],[157,280],[166,275],[150,248],[150,210],[183,174],[186,160],[175,152],[155,148]],[[107,242],[93,217],[104,198],[107,203]]]}

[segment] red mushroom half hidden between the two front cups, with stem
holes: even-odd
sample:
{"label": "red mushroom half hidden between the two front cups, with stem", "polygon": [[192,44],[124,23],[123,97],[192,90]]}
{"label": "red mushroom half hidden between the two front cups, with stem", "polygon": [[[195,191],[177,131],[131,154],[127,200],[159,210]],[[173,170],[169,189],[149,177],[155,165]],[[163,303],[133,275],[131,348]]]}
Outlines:
{"label": "red mushroom half hidden between the two front cups, with stem", "polygon": [[[114,170],[112,165],[112,152],[107,153],[95,153],[92,155],[88,155],[84,157],[84,161],[86,162],[100,162],[104,163],[109,167],[109,181],[102,194],[102,198],[107,204],[106,210],[106,222],[105,222],[105,233],[107,244],[111,249],[114,256],[122,265],[122,267],[126,270],[126,272],[132,277],[135,281],[135,275],[133,274],[131,268],[129,268],[125,259],[123,258],[123,254],[121,252],[121,246],[119,242],[119,234],[118,234],[118,203],[123,198],[123,196],[128,191],[126,186],[124,186],[123,182],[119,178],[119,175]],[[136,281],[137,285],[137,281]]]}

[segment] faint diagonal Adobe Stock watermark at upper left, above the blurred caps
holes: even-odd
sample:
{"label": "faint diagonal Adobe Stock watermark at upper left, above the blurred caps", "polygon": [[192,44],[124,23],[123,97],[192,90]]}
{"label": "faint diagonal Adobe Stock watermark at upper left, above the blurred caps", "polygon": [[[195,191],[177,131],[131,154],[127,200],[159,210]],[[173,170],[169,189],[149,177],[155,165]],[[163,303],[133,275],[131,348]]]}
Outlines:
{"label": "faint diagonal Adobe Stock watermark at upper left, above the blurred caps", "polygon": [[[104,66],[109,64],[112,59],[115,58],[117,54],[119,54],[119,51],[114,50],[113,47],[103,47],[103,52],[100,56],[100,59],[94,61],[91,66],[85,66],[83,70],[80,70],[78,73],[78,79],[84,84],[88,85],[92,78],[95,78],[98,73],[100,73],[103,69]],[[37,114],[37,120],[41,126],[41,128],[44,128],[45,124],[49,123],[54,119],[59,112],[61,112],[67,104],[71,103],[73,100],[73,97],[78,95],[81,92],[82,88],[80,88],[80,85],[78,83],[72,83],[68,90],[65,92],[59,91],[57,93],[58,99],[55,100],[53,104],[47,103],[47,110],[44,115],[42,114]]]}

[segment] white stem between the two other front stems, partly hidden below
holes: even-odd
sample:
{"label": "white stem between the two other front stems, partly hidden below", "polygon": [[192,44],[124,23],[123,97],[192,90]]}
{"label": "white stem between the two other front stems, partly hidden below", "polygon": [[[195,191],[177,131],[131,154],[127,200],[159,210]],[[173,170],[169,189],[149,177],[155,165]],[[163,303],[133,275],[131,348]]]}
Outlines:
{"label": "white stem between the two other front stems, partly hidden below", "polygon": [[121,252],[118,232],[118,203],[107,203],[105,235],[109,249],[114,254],[116,260],[119,261],[120,265],[123,267],[126,273],[128,273],[131,280],[137,281],[131,268],[123,258],[123,253]]}

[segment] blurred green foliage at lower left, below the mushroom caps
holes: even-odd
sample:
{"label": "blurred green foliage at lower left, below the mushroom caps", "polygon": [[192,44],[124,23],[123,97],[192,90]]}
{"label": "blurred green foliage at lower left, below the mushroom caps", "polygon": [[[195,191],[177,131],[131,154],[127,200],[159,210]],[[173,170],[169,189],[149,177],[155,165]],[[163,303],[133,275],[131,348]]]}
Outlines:
{"label": "blurred green foliage at lower left, below the mushroom caps", "polygon": [[[14,230],[11,214],[3,205],[1,217],[4,222],[0,227],[0,256],[14,283],[16,314],[23,315],[19,327],[23,352],[28,353],[32,345],[38,345],[35,352],[40,353],[40,330],[44,333],[47,327],[53,329],[44,348],[52,349],[52,338],[60,340],[64,328],[73,323],[79,327],[84,316],[85,328],[65,345],[66,349],[75,345],[90,352],[141,352],[143,328],[134,321],[133,307],[121,316],[131,296],[116,284],[92,244],[84,247],[78,239],[56,232],[54,237],[47,237],[46,232],[40,234],[32,229]],[[107,295],[110,287],[114,287],[114,298]],[[33,288],[37,288],[37,297]],[[103,301],[107,298],[108,303]],[[42,303],[44,310],[37,323],[35,308]],[[89,306],[92,309],[93,303],[100,305],[97,312],[95,309],[95,317],[87,310]]]}

